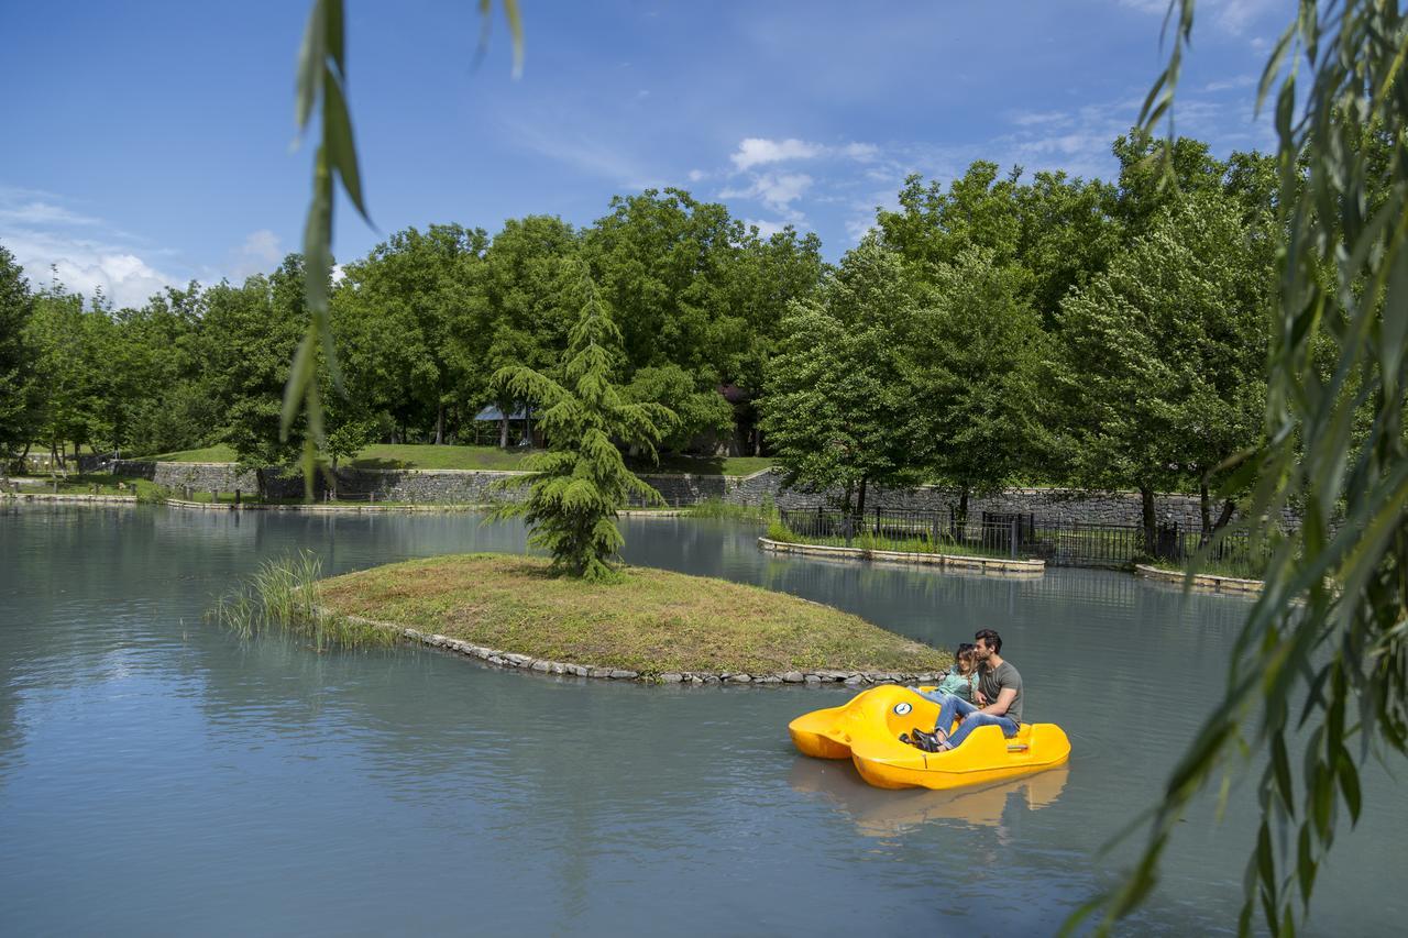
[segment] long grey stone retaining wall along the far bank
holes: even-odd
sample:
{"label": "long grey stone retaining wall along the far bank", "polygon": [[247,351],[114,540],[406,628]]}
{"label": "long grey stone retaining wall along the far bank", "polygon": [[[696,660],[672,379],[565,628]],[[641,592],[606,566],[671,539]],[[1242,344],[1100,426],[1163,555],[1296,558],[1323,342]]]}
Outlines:
{"label": "long grey stone retaining wall along the far bank", "polygon": [[[200,492],[253,493],[258,486],[252,472],[238,472],[228,463],[151,462],[124,459],[110,463],[117,475],[149,479],[180,493],[184,486]],[[270,494],[276,499],[297,499],[303,494],[303,475],[297,470],[269,469]],[[338,469],[338,490],[356,497],[370,492],[377,500],[422,503],[486,503],[524,497],[522,490],[496,487],[500,480],[520,475],[513,472],[460,469]],[[760,507],[766,503],[780,508],[815,508],[828,503],[826,493],[787,489],[781,473],[758,472],[750,476],[698,475],[642,475],[665,501],[674,507],[691,506],[705,499],[722,499],[734,504]],[[315,490],[321,497],[325,479],[318,476]],[[957,504],[953,492],[936,486],[914,489],[873,489],[867,507],[900,510],[949,511]],[[1156,510],[1162,523],[1177,521],[1184,528],[1197,528],[1198,499],[1188,494],[1160,494]],[[1080,524],[1142,524],[1139,494],[1133,492],[1094,493],[1076,489],[1008,489],[987,497],[969,499],[969,518],[977,521],[984,511],[1033,514],[1042,521],[1076,521]],[[1286,511],[1283,523],[1298,527],[1294,511]]]}

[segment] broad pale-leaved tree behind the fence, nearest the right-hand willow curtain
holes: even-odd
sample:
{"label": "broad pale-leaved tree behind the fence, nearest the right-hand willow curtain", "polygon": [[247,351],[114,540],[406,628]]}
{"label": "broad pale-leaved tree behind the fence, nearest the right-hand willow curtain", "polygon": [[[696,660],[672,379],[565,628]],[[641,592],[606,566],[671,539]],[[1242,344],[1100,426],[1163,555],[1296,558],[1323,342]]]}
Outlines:
{"label": "broad pale-leaved tree behind the fence, nearest the right-hand willow curtain", "polygon": [[1186,196],[1062,304],[1059,380],[1076,477],[1139,490],[1150,554],[1155,493],[1205,484],[1256,442],[1267,261],[1235,203],[1215,190]]}

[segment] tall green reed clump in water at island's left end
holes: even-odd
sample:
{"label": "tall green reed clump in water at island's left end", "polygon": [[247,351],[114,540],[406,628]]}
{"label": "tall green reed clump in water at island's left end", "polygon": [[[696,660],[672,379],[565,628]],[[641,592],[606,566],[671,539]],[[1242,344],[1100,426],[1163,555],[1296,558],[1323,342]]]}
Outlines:
{"label": "tall green reed clump in water at island's left end", "polygon": [[397,634],[331,613],[318,603],[322,561],[311,551],[265,561],[245,582],[215,600],[206,618],[244,641],[293,635],[317,651],[391,645]]}

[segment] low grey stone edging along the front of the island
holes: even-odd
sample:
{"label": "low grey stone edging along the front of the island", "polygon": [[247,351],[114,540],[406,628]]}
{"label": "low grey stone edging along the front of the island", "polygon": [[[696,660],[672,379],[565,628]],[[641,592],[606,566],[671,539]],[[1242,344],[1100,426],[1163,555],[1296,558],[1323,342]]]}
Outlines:
{"label": "low grey stone edging along the front of the island", "polygon": [[351,623],[356,623],[359,625],[373,625],[376,628],[391,630],[422,645],[429,645],[431,648],[442,648],[445,651],[456,652],[459,655],[466,655],[469,658],[477,658],[489,665],[498,665],[501,668],[517,668],[521,670],[532,670],[542,675],[562,675],[569,677],[635,680],[642,683],[659,683],[659,684],[839,683],[848,687],[859,687],[860,684],[897,684],[897,683],[928,684],[928,683],[935,683],[942,677],[942,675],[934,672],[921,672],[911,675],[911,673],[891,672],[891,670],[834,670],[834,669],[786,670],[786,672],[765,673],[765,675],[749,675],[741,670],[719,670],[719,672],[673,670],[673,672],[663,672],[659,675],[643,675],[638,670],[629,670],[627,668],[573,665],[570,662],[563,662],[563,661],[548,661],[545,658],[534,658],[532,655],[518,655],[514,652],[498,651],[497,648],[486,648],[483,645],[474,645],[473,642],[466,642],[459,638],[451,638],[449,635],[422,632],[420,630],[408,628],[406,625],[397,625],[396,623],[382,623],[375,618],[363,618],[360,615],[345,615],[344,618],[346,618]]}

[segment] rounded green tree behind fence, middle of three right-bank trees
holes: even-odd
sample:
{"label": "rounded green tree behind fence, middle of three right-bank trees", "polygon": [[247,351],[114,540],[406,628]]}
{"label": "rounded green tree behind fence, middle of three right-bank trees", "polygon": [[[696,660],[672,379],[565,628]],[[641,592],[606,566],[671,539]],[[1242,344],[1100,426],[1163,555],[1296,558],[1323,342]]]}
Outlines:
{"label": "rounded green tree behind fence, middle of three right-bank trees", "polygon": [[990,494],[1042,462],[1050,446],[1041,384],[1046,335],[1015,265],[966,248],[926,277],[905,328],[914,458],[957,492],[957,535],[970,494]]}

